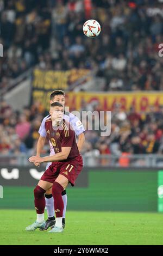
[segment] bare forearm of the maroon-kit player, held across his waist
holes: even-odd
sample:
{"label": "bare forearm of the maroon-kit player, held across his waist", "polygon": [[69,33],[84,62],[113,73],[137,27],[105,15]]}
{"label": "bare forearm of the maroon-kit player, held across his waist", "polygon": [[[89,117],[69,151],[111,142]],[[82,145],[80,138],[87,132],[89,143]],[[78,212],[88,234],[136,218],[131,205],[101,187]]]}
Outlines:
{"label": "bare forearm of the maroon-kit player, held across his waist", "polygon": [[70,154],[71,147],[63,147],[61,148],[61,152],[55,154],[54,156],[32,156],[29,157],[29,162],[37,162],[37,163],[43,163],[43,162],[55,162],[55,161],[61,161],[66,160],[68,155]]}

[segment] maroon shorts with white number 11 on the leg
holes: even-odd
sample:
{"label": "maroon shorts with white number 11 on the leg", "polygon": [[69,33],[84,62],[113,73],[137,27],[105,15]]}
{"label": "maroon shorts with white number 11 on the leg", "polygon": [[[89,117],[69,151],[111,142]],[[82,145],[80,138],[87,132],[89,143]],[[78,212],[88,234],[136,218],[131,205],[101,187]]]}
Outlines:
{"label": "maroon shorts with white number 11 on the leg", "polygon": [[72,160],[66,162],[53,162],[51,166],[42,175],[41,180],[51,183],[57,179],[58,175],[64,175],[68,181],[74,186],[74,183],[83,168],[83,159],[79,155]]}

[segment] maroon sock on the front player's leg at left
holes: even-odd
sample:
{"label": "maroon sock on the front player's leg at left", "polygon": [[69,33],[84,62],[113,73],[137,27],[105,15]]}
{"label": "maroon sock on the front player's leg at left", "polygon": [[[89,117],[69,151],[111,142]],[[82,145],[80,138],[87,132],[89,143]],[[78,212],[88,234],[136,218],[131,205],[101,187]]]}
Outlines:
{"label": "maroon sock on the front player's leg at left", "polygon": [[34,189],[34,197],[35,197],[35,209],[37,214],[43,214],[45,209],[45,194],[46,190],[43,190],[42,187],[36,186]]}

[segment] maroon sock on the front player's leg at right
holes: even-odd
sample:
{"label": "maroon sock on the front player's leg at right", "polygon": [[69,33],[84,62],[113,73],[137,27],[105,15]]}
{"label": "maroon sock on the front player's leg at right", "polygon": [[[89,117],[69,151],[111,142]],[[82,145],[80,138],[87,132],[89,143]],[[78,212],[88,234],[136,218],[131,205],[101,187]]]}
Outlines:
{"label": "maroon sock on the front player's leg at right", "polygon": [[57,218],[63,216],[64,211],[64,201],[62,199],[62,191],[64,188],[58,183],[54,182],[52,187],[52,194],[54,197],[54,209],[55,209],[55,215]]}

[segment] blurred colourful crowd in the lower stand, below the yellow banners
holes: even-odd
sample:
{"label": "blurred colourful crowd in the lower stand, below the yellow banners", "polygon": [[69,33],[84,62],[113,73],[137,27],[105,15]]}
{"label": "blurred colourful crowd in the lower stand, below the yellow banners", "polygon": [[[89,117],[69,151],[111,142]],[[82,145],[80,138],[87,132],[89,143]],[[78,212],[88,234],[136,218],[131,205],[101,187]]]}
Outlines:
{"label": "blurred colourful crowd in the lower stand, below the yellow banners", "polygon": [[[83,110],[103,111],[99,103],[86,105]],[[1,155],[33,155],[39,138],[41,121],[45,115],[39,102],[31,107],[24,107],[20,112],[14,111],[6,101],[0,104],[0,154]],[[120,166],[126,166],[124,157],[132,154],[162,154],[163,153],[163,107],[152,107],[147,113],[137,113],[134,108],[124,112],[120,105],[115,105],[111,111],[111,134],[101,136],[101,126],[95,128],[93,119],[92,130],[88,130],[89,119],[82,120],[85,126],[86,141],[82,155],[89,164],[96,165],[96,156],[116,156]],[[49,154],[48,141],[42,154]],[[93,159],[91,158],[93,157]],[[121,159],[122,157],[122,159]],[[98,160],[98,164],[108,165],[110,160]]]}

